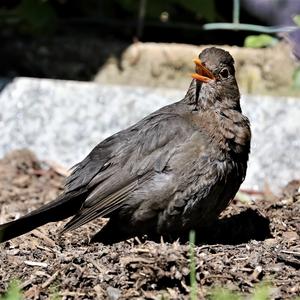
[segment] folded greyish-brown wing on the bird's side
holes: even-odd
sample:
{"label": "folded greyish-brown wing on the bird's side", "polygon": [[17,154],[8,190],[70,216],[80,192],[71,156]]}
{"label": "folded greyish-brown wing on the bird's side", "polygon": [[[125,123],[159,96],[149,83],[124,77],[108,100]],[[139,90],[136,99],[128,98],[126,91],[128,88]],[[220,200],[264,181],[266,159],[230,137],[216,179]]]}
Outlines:
{"label": "folded greyish-brown wing on the bird's side", "polygon": [[164,170],[193,130],[181,115],[159,110],[100,143],[67,181],[70,191],[86,186],[91,192],[63,231],[121,207],[138,186]]}

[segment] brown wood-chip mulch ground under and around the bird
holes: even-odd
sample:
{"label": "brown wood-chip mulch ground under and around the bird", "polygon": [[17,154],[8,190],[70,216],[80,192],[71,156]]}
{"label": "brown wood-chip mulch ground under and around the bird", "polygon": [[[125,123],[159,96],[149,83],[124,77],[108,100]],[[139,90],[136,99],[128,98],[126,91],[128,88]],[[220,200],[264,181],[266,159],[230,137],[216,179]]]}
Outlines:
{"label": "brown wood-chip mulch ground under and around the bird", "polygon": [[[53,199],[65,175],[28,150],[9,153],[0,161],[0,222]],[[213,228],[196,232],[199,299],[217,286],[249,294],[261,282],[271,299],[300,295],[299,187],[295,180],[281,196],[245,191]],[[63,222],[51,223],[0,245],[0,293],[17,278],[25,299],[189,299],[188,243],[89,244],[103,222],[62,237]]]}

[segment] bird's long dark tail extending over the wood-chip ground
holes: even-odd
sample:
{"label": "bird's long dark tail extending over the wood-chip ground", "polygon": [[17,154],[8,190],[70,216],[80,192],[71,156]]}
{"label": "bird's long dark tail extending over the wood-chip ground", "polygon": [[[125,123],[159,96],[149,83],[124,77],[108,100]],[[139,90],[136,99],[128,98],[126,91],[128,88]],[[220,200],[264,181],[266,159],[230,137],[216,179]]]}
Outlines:
{"label": "bird's long dark tail extending over the wood-chip ground", "polygon": [[[66,194],[37,210],[6,224],[0,225],[0,243],[20,236],[49,222],[60,221],[74,215],[82,204],[82,195],[71,197]],[[70,203],[70,201],[72,203]]]}

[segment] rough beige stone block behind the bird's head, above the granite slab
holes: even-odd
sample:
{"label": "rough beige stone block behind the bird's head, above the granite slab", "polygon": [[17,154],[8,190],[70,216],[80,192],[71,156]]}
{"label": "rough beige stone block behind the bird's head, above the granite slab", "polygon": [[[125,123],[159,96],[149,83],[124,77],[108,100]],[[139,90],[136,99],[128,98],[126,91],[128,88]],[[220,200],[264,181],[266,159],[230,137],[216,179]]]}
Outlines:
{"label": "rough beige stone block behind the bird's head, above the granite slab", "polygon": [[[108,59],[94,80],[101,84],[126,84],[185,89],[193,72],[192,58],[207,46],[177,43],[135,43],[119,59]],[[243,92],[289,95],[296,62],[290,46],[251,49],[224,46],[234,57],[237,81]],[[284,66],[284,67],[283,67]]]}

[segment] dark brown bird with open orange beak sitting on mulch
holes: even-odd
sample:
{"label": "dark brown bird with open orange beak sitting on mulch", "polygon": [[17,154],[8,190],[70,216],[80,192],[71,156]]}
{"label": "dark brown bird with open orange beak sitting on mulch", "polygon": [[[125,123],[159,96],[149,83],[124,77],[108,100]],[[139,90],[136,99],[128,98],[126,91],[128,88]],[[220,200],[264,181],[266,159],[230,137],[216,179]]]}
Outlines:
{"label": "dark brown bird with open orange beak sitting on mulch", "polygon": [[106,244],[172,241],[212,224],[246,176],[251,129],[230,53],[209,47],[194,63],[182,100],[101,141],[57,199],[0,225],[1,242],[69,217],[60,234],[108,218],[91,238]]}

